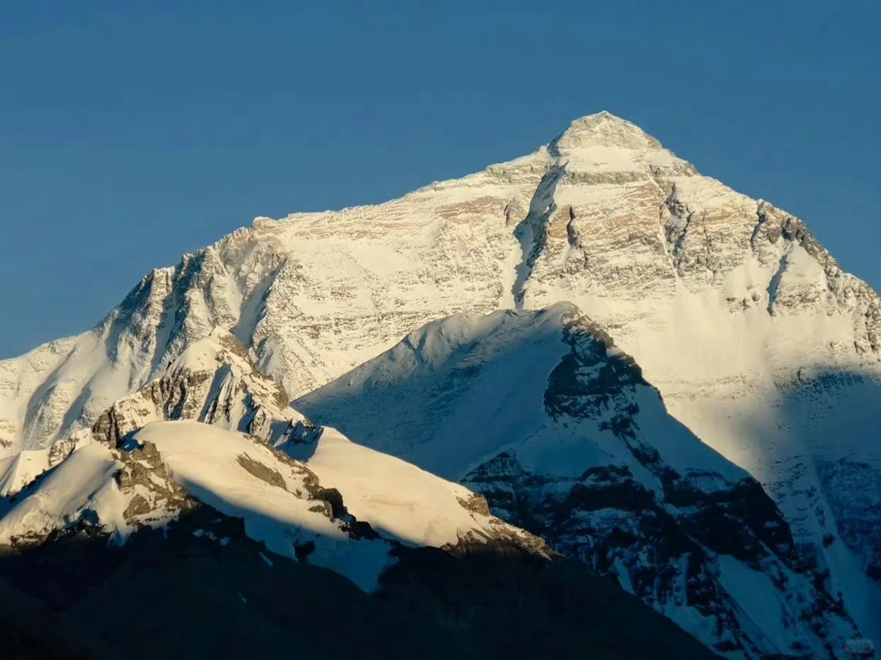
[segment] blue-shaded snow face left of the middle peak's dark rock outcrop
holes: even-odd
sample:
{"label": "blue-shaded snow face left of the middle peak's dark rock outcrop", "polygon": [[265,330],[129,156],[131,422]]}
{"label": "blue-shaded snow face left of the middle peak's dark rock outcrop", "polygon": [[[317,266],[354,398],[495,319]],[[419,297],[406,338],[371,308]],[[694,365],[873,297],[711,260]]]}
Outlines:
{"label": "blue-shaded snow face left of the middle peak's dark rock outcrop", "polygon": [[[559,330],[568,310],[433,322],[294,407],[320,423],[333,419],[359,444],[441,478],[462,479],[513,438],[544,426],[542,393],[567,351]],[[389,405],[394,428],[387,424]]]}

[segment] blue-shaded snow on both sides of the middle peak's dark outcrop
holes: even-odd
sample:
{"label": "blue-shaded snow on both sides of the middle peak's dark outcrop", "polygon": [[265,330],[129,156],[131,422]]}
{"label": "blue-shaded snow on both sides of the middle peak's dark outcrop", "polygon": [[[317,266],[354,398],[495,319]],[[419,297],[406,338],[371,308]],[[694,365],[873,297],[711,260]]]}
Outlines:
{"label": "blue-shaded snow on both sides of the middle peak's dark outcrop", "polygon": [[[575,477],[592,466],[626,465],[660,494],[658,481],[626,444],[598,429],[601,420],[569,420],[564,427],[545,413],[549,375],[571,350],[563,318],[574,313],[572,305],[557,304],[542,312],[434,321],[294,407],[315,422],[337,424],[359,444],[449,480],[512,449],[524,466],[544,474]],[[627,396],[639,406],[638,423],[665,464],[718,476],[695,485],[715,490],[749,476],[670,417],[650,387],[638,385]]]}

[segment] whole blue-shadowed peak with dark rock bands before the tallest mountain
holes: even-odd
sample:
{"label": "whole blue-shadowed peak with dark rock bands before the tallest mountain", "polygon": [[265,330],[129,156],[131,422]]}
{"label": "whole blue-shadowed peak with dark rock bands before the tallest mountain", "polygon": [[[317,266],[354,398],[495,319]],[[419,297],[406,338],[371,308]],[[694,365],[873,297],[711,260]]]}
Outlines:
{"label": "whole blue-shadowed peak with dark rock bands before the tallest mountain", "polygon": [[463,481],[731,657],[837,656],[855,634],[759,484],[570,304],[434,321],[294,406]]}

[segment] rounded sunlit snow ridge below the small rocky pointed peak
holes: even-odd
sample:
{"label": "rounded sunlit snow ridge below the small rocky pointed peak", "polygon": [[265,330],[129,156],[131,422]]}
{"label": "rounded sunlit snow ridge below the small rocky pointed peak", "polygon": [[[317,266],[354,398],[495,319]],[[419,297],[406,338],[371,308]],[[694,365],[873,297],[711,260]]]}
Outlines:
{"label": "rounded sunlit snow ridge below the small rocky pointed peak", "polygon": [[[98,526],[122,544],[140,527],[167,524],[202,502],[241,517],[248,537],[273,553],[331,568],[368,591],[394,562],[392,541],[455,547],[506,539],[548,556],[540,539],[489,515],[467,488],[333,429],[315,445],[315,460],[303,463],[211,424],[151,422],[118,449],[85,445],[7,498],[0,546],[40,543],[77,525]],[[365,468],[388,479],[359,478]]]}

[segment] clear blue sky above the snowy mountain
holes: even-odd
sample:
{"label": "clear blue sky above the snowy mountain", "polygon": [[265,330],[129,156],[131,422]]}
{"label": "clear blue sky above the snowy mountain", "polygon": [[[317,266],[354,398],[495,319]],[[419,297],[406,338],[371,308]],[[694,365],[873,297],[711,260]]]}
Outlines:
{"label": "clear blue sky above the snowy mountain", "polygon": [[0,4],[0,357],[254,216],[381,202],[602,109],[881,289],[878,7]]}

